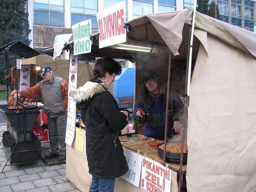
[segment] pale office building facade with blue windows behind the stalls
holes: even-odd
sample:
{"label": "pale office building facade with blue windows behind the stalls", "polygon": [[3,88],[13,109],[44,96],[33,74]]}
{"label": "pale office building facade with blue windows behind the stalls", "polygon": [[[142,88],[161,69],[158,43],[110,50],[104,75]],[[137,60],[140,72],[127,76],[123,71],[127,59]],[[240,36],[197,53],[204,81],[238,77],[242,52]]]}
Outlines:
{"label": "pale office building facade with blue windows behind the stalls", "polygon": [[[92,19],[92,32],[98,29],[96,13],[123,0],[28,0],[27,12],[31,47],[41,51],[53,45],[54,37],[72,33],[71,26]],[[181,11],[193,8],[194,0],[124,0],[126,20],[157,12]],[[209,0],[209,4],[211,1]],[[254,0],[215,0],[221,20],[253,31]]]}

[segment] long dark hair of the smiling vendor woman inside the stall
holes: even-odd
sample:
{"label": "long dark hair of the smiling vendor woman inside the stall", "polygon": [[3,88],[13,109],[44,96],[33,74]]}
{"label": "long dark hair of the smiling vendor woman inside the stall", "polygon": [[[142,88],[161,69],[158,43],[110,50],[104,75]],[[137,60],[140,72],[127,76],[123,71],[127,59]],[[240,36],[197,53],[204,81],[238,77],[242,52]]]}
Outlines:
{"label": "long dark hair of the smiling vendor woman inside the stall", "polygon": [[145,82],[148,80],[155,80],[157,82],[157,88],[160,92],[160,94],[163,94],[164,97],[162,97],[161,102],[166,102],[166,91],[164,89],[164,86],[162,82],[159,79],[159,76],[155,71],[149,70],[145,71],[141,78],[142,88],[141,88],[141,101],[144,103],[148,108],[151,106],[151,100],[150,100],[150,92],[148,91],[148,88],[145,85]]}

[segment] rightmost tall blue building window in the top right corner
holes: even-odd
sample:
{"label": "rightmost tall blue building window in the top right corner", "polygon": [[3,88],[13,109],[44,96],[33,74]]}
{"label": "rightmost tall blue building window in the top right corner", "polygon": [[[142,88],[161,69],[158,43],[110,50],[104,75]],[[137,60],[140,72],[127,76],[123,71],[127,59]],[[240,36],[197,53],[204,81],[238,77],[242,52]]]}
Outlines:
{"label": "rightmost tall blue building window in the top right corner", "polygon": [[244,28],[253,32],[254,5],[253,1],[244,0]]}

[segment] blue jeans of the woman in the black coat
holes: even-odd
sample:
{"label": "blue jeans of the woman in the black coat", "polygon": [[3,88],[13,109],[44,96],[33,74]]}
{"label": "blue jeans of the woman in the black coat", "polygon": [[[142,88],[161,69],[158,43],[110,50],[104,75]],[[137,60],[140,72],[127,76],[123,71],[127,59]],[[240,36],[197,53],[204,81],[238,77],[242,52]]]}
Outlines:
{"label": "blue jeans of the woman in the black coat", "polygon": [[114,192],[116,178],[103,179],[92,176],[89,192]]}

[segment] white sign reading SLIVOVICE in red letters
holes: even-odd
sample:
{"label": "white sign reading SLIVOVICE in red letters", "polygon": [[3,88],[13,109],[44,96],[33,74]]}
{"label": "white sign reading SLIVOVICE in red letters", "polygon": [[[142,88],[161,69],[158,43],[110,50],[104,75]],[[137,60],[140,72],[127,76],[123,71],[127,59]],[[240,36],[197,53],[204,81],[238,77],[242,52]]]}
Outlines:
{"label": "white sign reading SLIVOVICE in red letters", "polygon": [[97,13],[99,48],[126,42],[125,3],[115,4]]}

